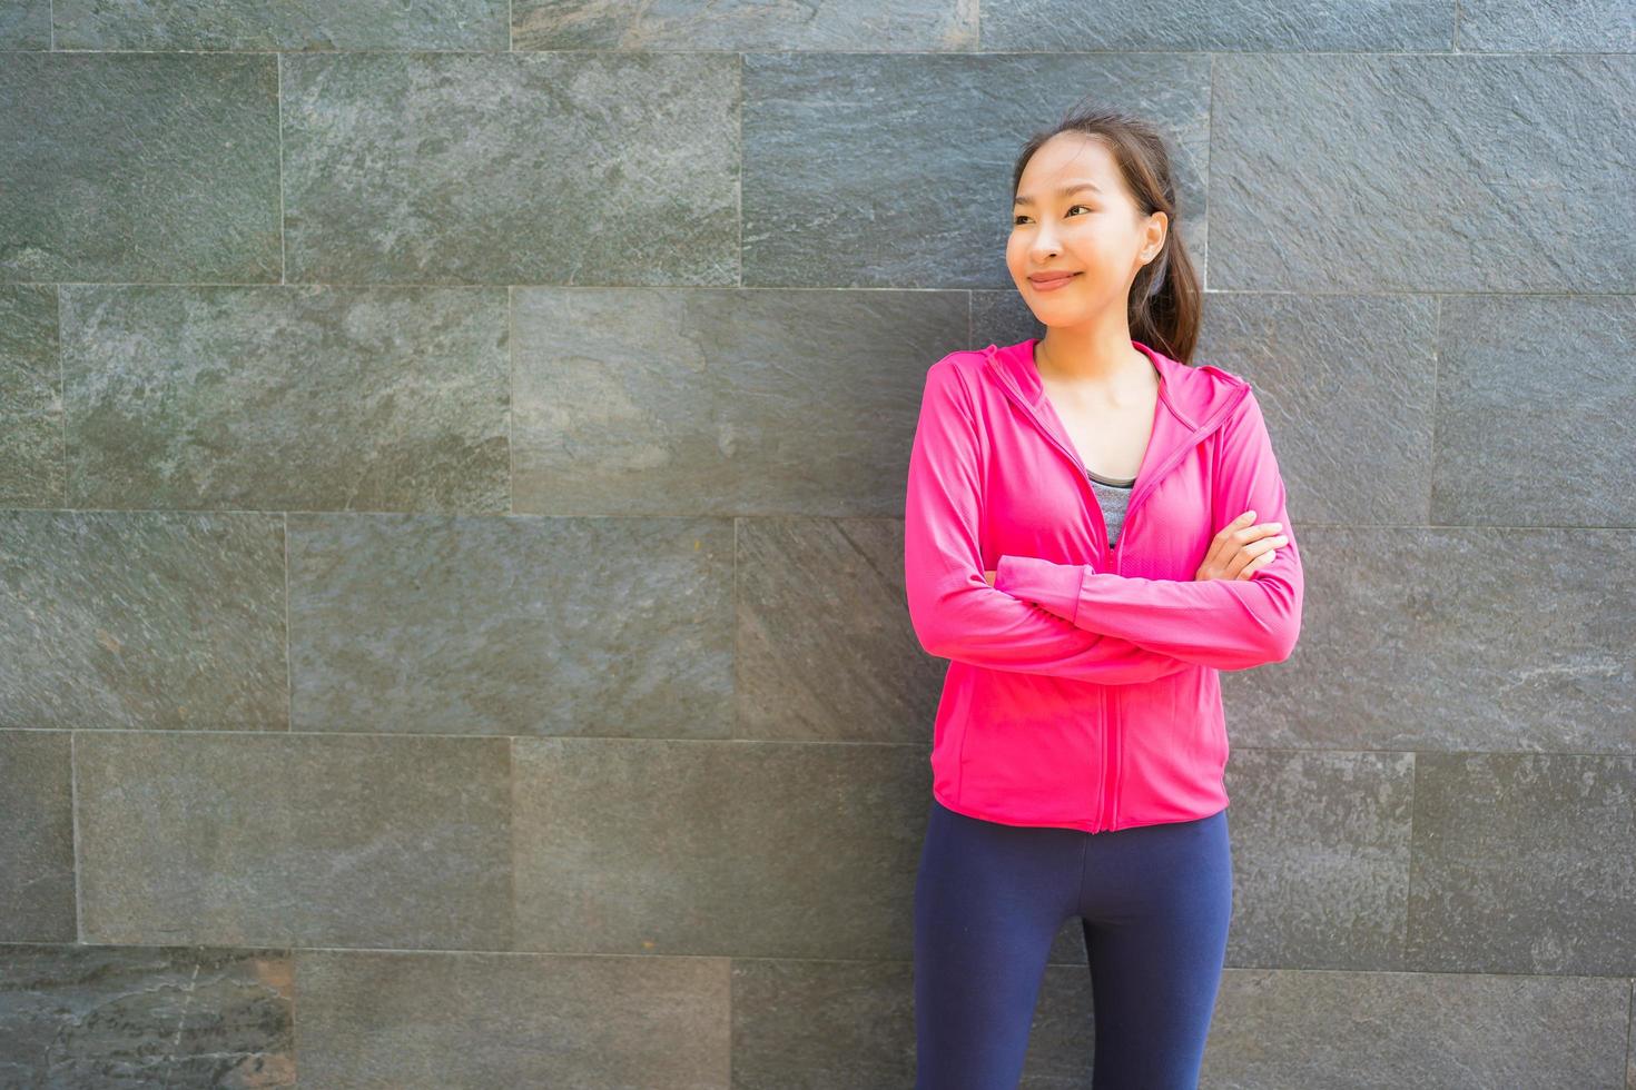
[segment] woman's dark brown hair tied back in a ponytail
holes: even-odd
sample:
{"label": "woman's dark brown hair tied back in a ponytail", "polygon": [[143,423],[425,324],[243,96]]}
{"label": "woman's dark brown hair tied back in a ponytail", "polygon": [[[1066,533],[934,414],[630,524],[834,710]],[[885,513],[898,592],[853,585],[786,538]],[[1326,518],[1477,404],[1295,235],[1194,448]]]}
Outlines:
{"label": "woman's dark brown hair tied back in a ponytail", "polygon": [[1191,363],[1199,340],[1202,296],[1199,276],[1176,230],[1176,185],[1170,175],[1170,152],[1158,131],[1139,118],[1112,109],[1068,113],[1057,127],[1029,137],[1011,173],[1011,196],[1022,181],[1022,170],[1034,152],[1058,132],[1081,132],[1099,139],[1119,167],[1139,216],[1165,212],[1165,247],[1130,284],[1130,338],[1157,348],[1171,360]]}

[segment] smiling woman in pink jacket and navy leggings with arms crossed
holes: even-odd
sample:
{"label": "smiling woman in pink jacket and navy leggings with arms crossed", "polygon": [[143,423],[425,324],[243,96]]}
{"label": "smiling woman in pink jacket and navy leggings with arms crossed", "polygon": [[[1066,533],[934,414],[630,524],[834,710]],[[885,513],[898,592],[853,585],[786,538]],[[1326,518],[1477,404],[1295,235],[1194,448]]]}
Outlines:
{"label": "smiling woman in pink jacket and navy leggings with arms crossed", "polygon": [[1163,141],[1070,116],[1013,196],[1006,265],[1045,337],[933,364],[910,456],[910,616],[951,660],[916,1088],[1018,1085],[1070,917],[1094,1087],[1191,1088],[1232,915],[1219,672],[1289,657],[1301,554],[1248,382],[1184,363],[1199,288]]}

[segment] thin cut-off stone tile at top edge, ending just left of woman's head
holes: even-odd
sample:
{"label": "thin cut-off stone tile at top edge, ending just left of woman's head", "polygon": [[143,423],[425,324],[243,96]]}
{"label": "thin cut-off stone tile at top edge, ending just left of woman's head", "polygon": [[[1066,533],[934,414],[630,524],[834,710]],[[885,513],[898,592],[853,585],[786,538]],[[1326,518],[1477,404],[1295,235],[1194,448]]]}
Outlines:
{"label": "thin cut-off stone tile at top edge, ending just left of woman's head", "polygon": [[977,0],[823,0],[810,5],[664,5],[514,0],[517,49],[859,49],[977,47]]}

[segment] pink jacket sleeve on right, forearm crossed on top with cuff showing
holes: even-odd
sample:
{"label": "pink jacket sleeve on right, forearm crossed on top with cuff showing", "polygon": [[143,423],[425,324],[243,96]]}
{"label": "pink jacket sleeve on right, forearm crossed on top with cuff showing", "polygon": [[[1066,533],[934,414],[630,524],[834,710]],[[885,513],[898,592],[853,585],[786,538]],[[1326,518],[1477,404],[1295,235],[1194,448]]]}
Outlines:
{"label": "pink jacket sleeve on right, forearm crossed on top with cuff showing", "polygon": [[1289,541],[1250,579],[1139,579],[1003,556],[995,567],[995,587],[1086,631],[1121,636],[1219,670],[1283,662],[1301,634],[1306,579],[1284,480],[1253,392],[1220,435],[1212,503],[1224,520],[1253,508],[1258,523],[1283,523],[1279,533]]}

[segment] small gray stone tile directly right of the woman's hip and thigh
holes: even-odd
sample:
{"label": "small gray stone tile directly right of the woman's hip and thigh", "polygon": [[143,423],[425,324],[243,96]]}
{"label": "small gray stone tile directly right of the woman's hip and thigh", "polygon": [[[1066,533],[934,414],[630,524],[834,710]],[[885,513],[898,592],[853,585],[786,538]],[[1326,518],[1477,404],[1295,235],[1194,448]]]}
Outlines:
{"label": "small gray stone tile directly right of the woman's hip and thigh", "polygon": [[1229,966],[1404,966],[1414,760],[1234,748]]}

